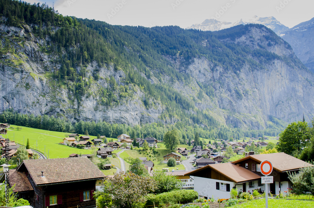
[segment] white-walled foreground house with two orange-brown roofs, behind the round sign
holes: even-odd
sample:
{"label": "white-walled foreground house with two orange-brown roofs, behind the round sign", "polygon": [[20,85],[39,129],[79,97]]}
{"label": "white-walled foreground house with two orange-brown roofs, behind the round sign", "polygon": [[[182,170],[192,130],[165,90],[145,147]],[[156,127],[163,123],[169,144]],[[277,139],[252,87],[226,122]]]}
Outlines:
{"label": "white-walled foreground house with two orange-brown roofs, behind the round sign", "polygon": [[274,183],[268,184],[268,190],[272,194],[279,194],[279,191],[284,194],[285,190],[291,188],[287,172],[298,172],[301,167],[312,166],[281,152],[250,155],[231,163],[207,165],[186,173],[185,176],[194,176],[194,190],[200,197],[229,199],[232,187],[242,192],[252,193],[254,189],[265,191],[265,184],[261,183],[263,174],[259,168],[263,160],[269,160],[273,164],[273,172],[269,176],[273,176]]}

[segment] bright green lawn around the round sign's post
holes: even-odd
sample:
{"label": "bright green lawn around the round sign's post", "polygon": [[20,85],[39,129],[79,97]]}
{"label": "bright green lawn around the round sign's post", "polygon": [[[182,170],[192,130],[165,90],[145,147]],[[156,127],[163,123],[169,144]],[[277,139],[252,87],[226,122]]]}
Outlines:
{"label": "bright green lawn around the round sign's post", "polygon": [[[233,206],[234,208],[252,208],[265,207],[265,199],[248,201],[241,205]],[[304,208],[314,207],[313,201],[285,200],[285,199],[268,199],[268,208]]]}

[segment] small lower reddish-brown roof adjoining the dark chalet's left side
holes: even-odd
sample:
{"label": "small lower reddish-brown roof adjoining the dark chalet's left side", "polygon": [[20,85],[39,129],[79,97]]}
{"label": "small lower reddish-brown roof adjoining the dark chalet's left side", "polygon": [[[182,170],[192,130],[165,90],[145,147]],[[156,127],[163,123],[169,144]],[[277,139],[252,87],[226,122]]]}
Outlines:
{"label": "small lower reddish-brown roof adjoining the dark chalet's left side", "polygon": [[9,183],[12,187],[15,184],[14,192],[34,190],[25,172],[18,172],[15,169],[9,170]]}

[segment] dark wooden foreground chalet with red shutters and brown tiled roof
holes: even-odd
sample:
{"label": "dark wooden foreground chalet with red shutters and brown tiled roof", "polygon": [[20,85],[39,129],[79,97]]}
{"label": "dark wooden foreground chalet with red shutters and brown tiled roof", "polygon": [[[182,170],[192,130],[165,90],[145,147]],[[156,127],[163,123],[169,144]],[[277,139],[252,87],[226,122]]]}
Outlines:
{"label": "dark wooden foreground chalet with red shutters and brown tiled roof", "polygon": [[34,208],[96,207],[95,183],[105,175],[86,157],[24,160],[9,186]]}

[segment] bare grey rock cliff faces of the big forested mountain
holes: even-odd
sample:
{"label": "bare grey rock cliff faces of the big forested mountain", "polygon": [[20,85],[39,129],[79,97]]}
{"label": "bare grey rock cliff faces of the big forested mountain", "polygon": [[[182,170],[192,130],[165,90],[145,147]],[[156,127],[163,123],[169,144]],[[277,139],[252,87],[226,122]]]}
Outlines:
{"label": "bare grey rock cliff faces of the big forested mountain", "polygon": [[[136,85],[129,87],[132,92],[114,106],[101,104],[98,89],[106,88],[109,79],[114,78],[118,86],[124,85],[125,74],[122,70],[114,70],[112,65],[99,67],[90,63],[86,68],[88,92],[78,104],[69,90],[70,83],[61,85],[52,79],[53,72],[60,68],[53,53],[47,52],[49,38],[36,38],[28,25],[23,28],[0,25],[0,31],[6,33],[9,44],[8,52],[1,57],[0,65],[0,111],[13,108],[22,113],[35,115],[65,116],[71,121],[105,120],[107,122],[140,124],[160,121],[166,105],[160,101],[150,100],[145,106],[143,91]],[[314,98],[311,95],[314,87],[313,74],[291,62],[293,51],[285,47],[280,39],[277,44],[268,44],[265,39],[269,33],[266,29],[252,28],[249,32],[235,40],[224,39],[255,49],[263,47],[282,59],[264,63],[264,69],[252,69],[243,63],[241,70],[232,72],[204,57],[195,58],[194,62],[182,66],[173,58],[172,63],[179,71],[190,74],[190,84],[176,81],[173,87],[195,102],[199,110],[208,112],[219,122],[234,127],[263,129],[268,116],[274,116],[290,122],[299,120],[302,113],[306,119],[313,118]],[[7,42],[8,42],[7,41]],[[170,57],[171,59],[171,57]],[[288,61],[286,61],[288,59]],[[100,79],[95,81],[90,75],[97,70]],[[136,70],[136,69],[134,69]],[[151,82],[158,83],[153,76]],[[164,80],[167,80],[164,77]],[[211,96],[203,93],[200,84],[211,86]],[[177,118],[164,118],[164,123],[174,123]]]}

